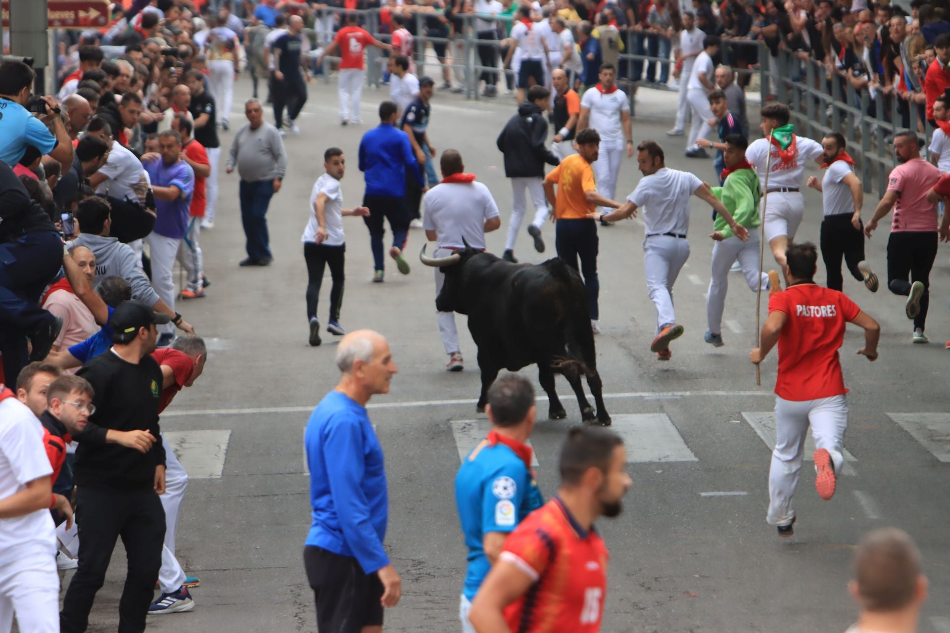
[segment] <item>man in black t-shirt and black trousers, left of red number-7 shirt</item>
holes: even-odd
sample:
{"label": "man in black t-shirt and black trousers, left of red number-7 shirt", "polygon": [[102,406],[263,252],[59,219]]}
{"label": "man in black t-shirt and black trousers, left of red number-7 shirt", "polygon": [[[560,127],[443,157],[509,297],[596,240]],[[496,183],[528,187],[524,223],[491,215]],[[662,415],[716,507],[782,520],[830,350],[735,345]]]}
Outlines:
{"label": "man in black t-shirt and black trousers, left of red number-7 shirt", "polygon": [[310,70],[302,61],[305,49],[310,48],[309,41],[303,33],[303,18],[292,15],[288,22],[286,33],[278,37],[271,50],[274,52],[274,87],[271,94],[274,97],[274,124],[283,131],[284,107],[287,107],[287,119],[290,121],[291,132],[299,133],[296,118],[307,102],[307,85],[310,81]]}

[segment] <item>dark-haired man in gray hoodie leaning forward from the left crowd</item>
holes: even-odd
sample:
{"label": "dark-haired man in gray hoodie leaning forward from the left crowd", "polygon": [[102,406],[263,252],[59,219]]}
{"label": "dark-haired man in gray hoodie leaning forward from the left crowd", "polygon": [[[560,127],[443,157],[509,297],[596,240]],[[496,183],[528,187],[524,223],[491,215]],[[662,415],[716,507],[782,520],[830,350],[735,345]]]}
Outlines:
{"label": "dark-haired man in gray hoodie leaning forward from the left crowd", "polygon": [[102,280],[110,275],[122,277],[132,286],[133,299],[145,302],[156,312],[164,312],[181,330],[195,333],[195,328],[161,301],[152,289],[132,247],[120,242],[118,237],[108,236],[112,220],[109,217],[109,207],[101,198],[92,197],[80,202],[76,219],[79,220],[79,230],[82,234],[70,246],[85,246],[92,251],[96,256],[97,279]]}

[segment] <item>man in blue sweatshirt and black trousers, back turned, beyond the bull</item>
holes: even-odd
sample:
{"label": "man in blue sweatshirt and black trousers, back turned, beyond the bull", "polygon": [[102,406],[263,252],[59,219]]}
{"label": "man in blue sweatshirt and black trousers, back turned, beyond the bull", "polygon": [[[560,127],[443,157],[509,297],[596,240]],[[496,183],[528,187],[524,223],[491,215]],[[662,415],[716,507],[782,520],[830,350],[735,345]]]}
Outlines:
{"label": "man in blue sweatshirt and black trousers, back turned, beyond the bull", "polygon": [[406,236],[409,232],[409,210],[403,198],[406,195],[406,170],[422,188],[428,191],[422,177],[419,162],[412,152],[409,135],[395,127],[399,106],[396,102],[385,101],[379,104],[379,125],[363,135],[359,142],[359,171],[366,176],[366,194],[363,206],[370,214],[363,217],[370,230],[372,249],[372,280],[383,281],[383,218],[390,221],[392,248],[390,257],[396,260],[396,267],[403,274],[409,274],[409,262],[403,257],[406,248]]}

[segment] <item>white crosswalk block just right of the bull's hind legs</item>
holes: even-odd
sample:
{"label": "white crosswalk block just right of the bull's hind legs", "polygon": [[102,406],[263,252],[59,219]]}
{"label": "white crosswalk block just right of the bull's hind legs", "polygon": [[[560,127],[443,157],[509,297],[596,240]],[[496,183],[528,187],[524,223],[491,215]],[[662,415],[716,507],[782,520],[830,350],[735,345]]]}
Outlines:
{"label": "white crosswalk block just right of the bull's hind legs", "polygon": [[665,413],[612,416],[611,431],[623,438],[627,463],[698,461]]}

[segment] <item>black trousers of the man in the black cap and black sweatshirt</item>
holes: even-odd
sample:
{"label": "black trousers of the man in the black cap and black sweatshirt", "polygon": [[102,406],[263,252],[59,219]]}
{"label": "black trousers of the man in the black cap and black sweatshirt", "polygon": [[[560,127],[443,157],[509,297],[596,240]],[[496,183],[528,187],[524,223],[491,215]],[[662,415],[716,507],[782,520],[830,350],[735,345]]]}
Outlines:
{"label": "black trousers of the man in the black cap and black sweatshirt", "polygon": [[119,601],[119,633],[142,633],[148,605],[155,594],[165,538],[165,511],[159,495],[153,490],[115,491],[80,486],[76,507],[79,568],[66,589],[60,630],[85,631],[116,539],[122,537],[128,573]]}

